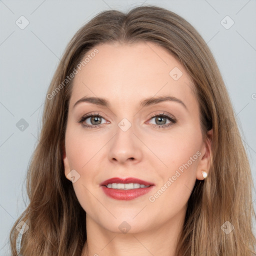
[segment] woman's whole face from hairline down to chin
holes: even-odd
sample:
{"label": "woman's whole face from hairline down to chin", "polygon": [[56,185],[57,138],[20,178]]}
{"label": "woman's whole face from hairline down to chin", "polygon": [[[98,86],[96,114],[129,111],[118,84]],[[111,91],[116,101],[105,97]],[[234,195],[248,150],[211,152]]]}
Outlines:
{"label": "woman's whole face from hairline down to chin", "polygon": [[[210,158],[192,81],[154,43],[95,48],[73,79],[65,175],[99,227],[139,232],[181,223]],[[90,54],[93,50],[97,53]],[[170,100],[157,100],[161,97]],[[83,118],[88,114],[96,116]],[[110,178],[117,180],[104,182]],[[137,188],[139,183],[150,186]]]}

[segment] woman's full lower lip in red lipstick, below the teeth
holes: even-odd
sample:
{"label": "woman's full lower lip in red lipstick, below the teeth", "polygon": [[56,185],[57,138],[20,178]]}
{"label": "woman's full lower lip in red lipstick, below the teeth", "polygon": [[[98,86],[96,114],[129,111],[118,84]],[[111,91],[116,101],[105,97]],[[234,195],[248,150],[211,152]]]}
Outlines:
{"label": "woman's full lower lip in red lipstick, below the teeth", "polygon": [[115,189],[115,188],[108,188],[106,186],[101,186],[104,193],[114,199],[117,200],[132,200],[137,198],[141,195],[148,193],[153,185],[144,188],[134,188],[134,189]]}

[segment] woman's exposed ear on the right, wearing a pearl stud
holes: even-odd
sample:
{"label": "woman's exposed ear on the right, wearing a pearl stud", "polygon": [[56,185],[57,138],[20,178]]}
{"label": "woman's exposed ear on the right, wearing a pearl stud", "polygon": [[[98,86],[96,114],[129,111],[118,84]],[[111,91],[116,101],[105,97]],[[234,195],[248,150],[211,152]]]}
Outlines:
{"label": "woman's exposed ear on the right, wearing a pearl stud", "polygon": [[201,158],[198,161],[197,164],[197,170],[196,170],[196,178],[199,180],[204,179],[202,176],[202,170],[207,172],[209,174],[209,168],[211,164],[211,146],[212,146],[212,138],[213,138],[213,130],[210,129],[207,132],[206,139],[203,142],[202,148],[201,148]]}

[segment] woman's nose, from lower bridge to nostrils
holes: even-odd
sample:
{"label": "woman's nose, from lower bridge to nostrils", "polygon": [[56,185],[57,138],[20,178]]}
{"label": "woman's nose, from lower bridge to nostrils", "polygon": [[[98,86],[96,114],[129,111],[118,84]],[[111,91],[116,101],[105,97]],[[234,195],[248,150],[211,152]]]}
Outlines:
{"label": "woman's nose, from lower bridge to nostrils", "polygon": [[121,164],[141,161],[142,143],[137,134],[134,134],[132,125],[126,131],[117,126],[116,134],[110,142],[108,158]]}

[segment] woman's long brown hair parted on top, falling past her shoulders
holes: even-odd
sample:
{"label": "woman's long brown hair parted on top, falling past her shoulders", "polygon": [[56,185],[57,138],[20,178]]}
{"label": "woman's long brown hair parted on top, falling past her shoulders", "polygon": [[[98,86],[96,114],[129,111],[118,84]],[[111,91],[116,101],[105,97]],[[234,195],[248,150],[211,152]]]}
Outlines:
{"label": "woman's long brown hair parted on top, falling past her shoulders", "polygon": [[[213,129],[212,162],[206,180],[196,180],[188,200],[176,255],[245,255],[254,251],[247,155],[227,90],[208,46],[179,15],[156,6],[128,13],[103,11],[82,26],[68,43],[48,88],[39,142],[27,173],[29,205],[10,232],[17,255],[15,226],[26,222],[23,256],[80,256],[86,240],[85,211],[64,175],[62,152],[72,80],[85,53],[105,42],[154,42],[177,58],[193,80],[202,134]],[[62,86],[60,85],[62,84]],[[228,221],[228,222],[226,222]],[[225,232],[226,225],[232,231]]]}

